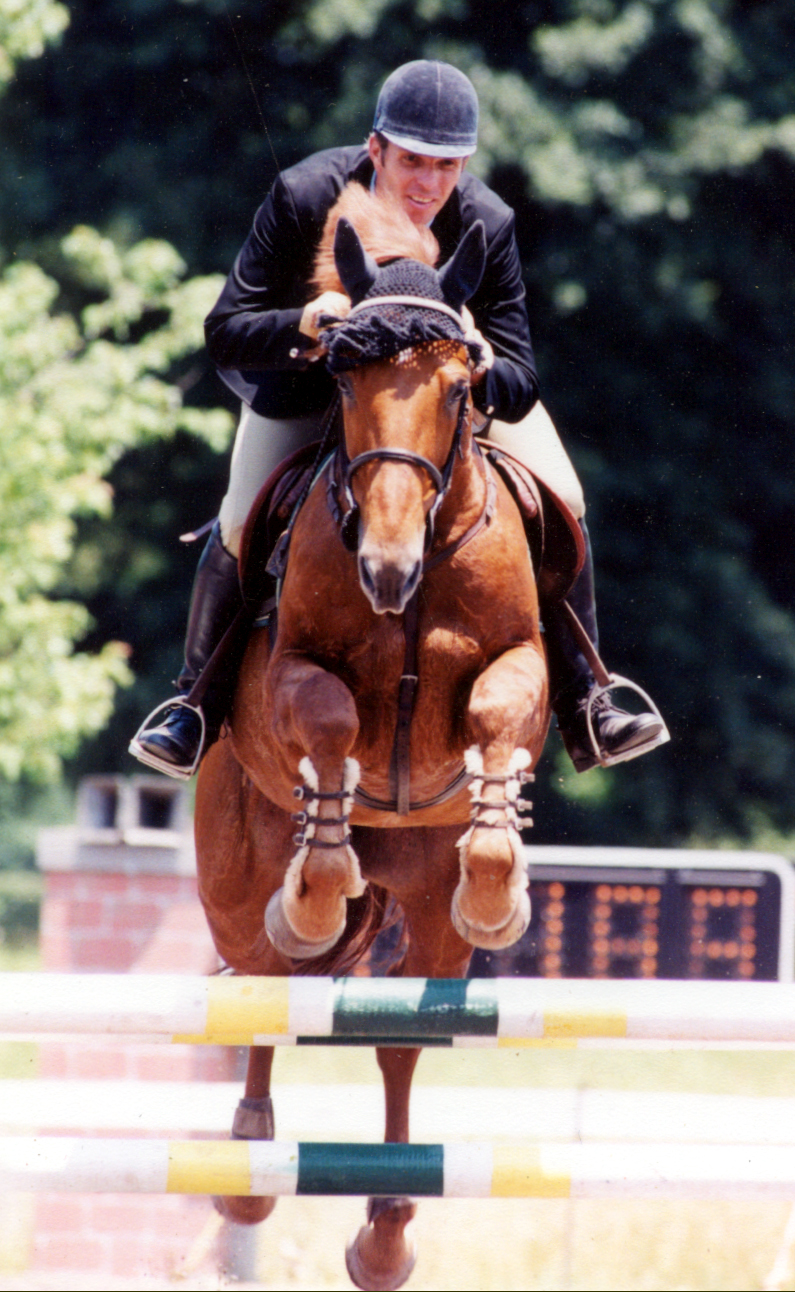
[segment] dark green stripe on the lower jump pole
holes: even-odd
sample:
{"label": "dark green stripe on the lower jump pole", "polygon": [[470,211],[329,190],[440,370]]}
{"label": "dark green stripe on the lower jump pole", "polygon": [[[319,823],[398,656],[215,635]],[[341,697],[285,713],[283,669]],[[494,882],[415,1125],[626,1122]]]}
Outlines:
{"label": "dark green stripe on the lower jump pole", "polygon": [[438,1143],[300,1143],[297,1194],[441,1198]]}

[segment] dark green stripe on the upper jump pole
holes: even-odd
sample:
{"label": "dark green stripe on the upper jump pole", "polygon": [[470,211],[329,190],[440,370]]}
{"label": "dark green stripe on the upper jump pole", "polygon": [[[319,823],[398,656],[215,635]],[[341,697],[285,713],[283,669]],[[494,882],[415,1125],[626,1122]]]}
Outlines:
{"label": "dark green stripe on the upper jump pole", "polygon": [[[372,979],[344,978],[335,986],[335,1036],[496,1036],[496,987],[483,991],[463,978],[379,978],[377,1013]],[[480,990],[477,990],[480,986]]]}

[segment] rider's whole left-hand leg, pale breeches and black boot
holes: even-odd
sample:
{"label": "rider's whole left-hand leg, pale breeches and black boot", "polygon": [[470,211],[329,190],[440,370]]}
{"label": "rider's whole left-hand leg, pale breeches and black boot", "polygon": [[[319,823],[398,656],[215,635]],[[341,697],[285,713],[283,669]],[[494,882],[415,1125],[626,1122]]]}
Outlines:
{"label": "rider's whole left-hand leg, pale breeches and black boot", "polygon": [[[224,637],[242,605],[238,580],[238,556],[246,518],[260,488],[278,464],[317,434],[317,417],[275,420],[260,417],[243,407],[231,456],[229,487],[218,521],[213,526],[196,570],[187,634],[185,665],[177,678],[177,691],[184,696],[203,672],[207,660]],[[193,708],[175,700],[165,711],[160,707],[147,718],[133,739],[129,752],[147,766],[168,775],[186,776],[213,740],[230,702],[234,677],[221,671],[213,678],[202,712],[206,724],[202,747],[202,720]],[[156,720],[156,725],[150,725]]]}

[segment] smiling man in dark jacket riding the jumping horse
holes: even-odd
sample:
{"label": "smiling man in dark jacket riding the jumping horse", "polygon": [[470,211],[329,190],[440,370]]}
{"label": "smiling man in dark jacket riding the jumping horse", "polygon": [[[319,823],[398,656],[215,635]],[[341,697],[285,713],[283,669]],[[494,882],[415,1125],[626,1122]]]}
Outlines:
{"label": "smiling man in dark jacket riding the jumping horse", "polygon": [[[429,225],[442,262],[467,229],[483,221],[486,269],[468,302],[474,319],[471,336],[485,355],[473,386],[476,420],[481,433],[530,465],[580,522],[586,565],[567,599],[596,646],[583,491],[538,402],[513,212],[465,171],[477,145],[477,96],[463,72],[441,62],[405,63],[381,88],[367,143],[328,149],[291,167],[257,211],[206,320],[208,351],[243,408],[229,488],[194,583],[185,667],[176,682],[181,696],[240,606],[238,554],[251,504],[282,459],[317,438],[319,415],[334,393],[324,364],[308,363],[304,353],[315,346],[321,315],[344,314],[349,302],[334,292],[308,301],[308,284],[326,216],[350,181],[397,202],[415,225]],[[544,607],[544,629],[552,707],[574,766],[586,771],[600,761],[587,720],[593,673],[555,607]],[[226,687],[211,683],[202,707],[207,747],[225,717]],[[609,694],[592,705],[592,727],[601,761],[635,757],[667,736],[659,714],[626,713]],[[176,699],[150,714],[131,752],[162,771],[187,776],[203,752],[202,740],[196,711]]]}

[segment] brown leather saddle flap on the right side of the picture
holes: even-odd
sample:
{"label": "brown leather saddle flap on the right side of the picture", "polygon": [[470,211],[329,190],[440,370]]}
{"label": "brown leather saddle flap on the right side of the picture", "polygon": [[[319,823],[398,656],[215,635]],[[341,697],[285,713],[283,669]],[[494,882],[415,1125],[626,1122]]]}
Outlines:
{"label": "brown leather saddle flap on the right side of the picture", "polygon": [[586,559],[586,543],[571,509],[525,463],[498,444],[482,442],[525,523],[542,601],[562,601]]}

